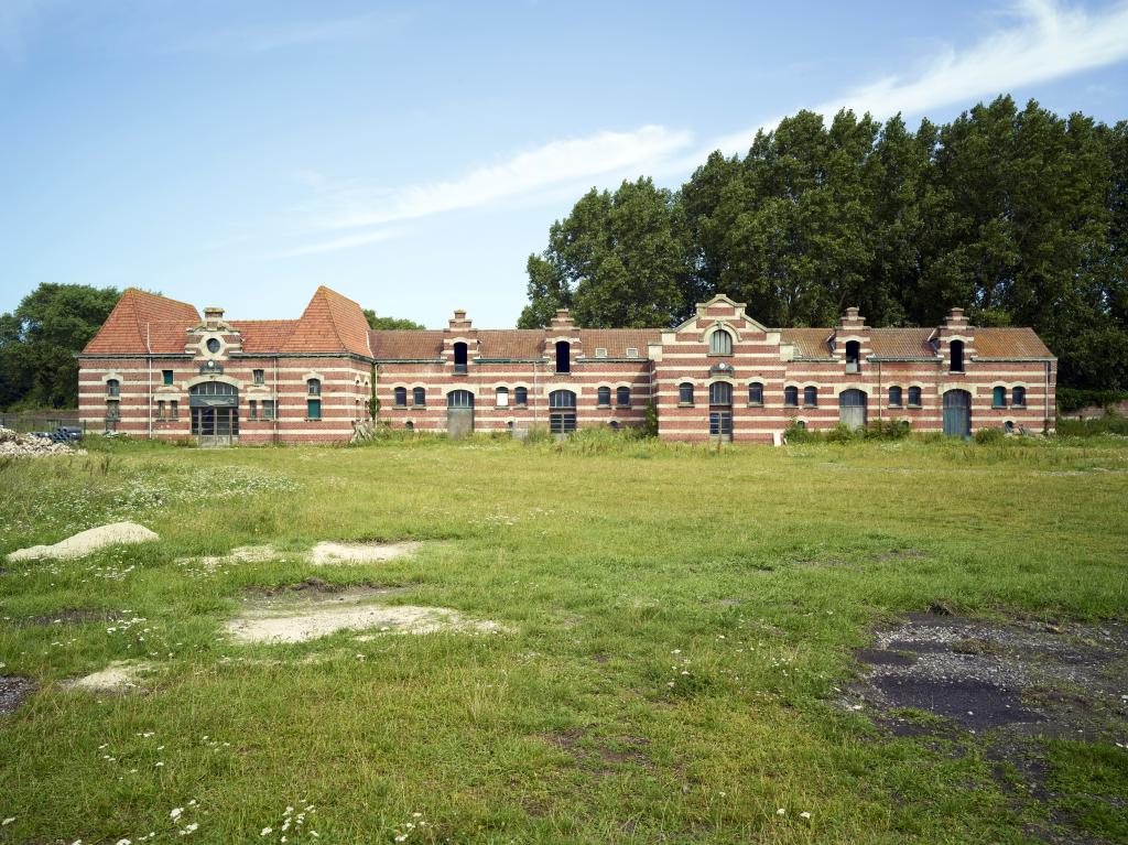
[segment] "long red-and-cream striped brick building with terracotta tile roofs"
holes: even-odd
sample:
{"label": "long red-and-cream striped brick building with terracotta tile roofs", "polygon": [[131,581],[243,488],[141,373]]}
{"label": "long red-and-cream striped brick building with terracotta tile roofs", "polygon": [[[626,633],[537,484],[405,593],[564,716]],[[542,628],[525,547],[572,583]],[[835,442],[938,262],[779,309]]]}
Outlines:
{"label": "long red-and-cream striped brick building with terracotta tile roofs", "polygon": [[640,425],[671,440],[758,440],[793,423],[908,420],[916,431],[1052,425],[1057,361],[1029,328],[871,328],[856,308],[828,328],[767,328],[714,297],[672,329],[370,331],[318,288],[296,320],[230,320],[129,290],[80,355],[91,426],[202,442],[332,442],[353,423],[416,431]]}

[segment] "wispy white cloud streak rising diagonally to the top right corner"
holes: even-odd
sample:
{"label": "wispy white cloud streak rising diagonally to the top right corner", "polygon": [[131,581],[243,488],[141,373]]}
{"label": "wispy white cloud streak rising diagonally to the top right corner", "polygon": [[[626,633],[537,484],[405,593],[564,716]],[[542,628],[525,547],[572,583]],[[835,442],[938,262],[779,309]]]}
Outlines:
{"label": "wispy white cloud streak rising diagonally to the top right corner", "polygon": [[[920,114],[929,108],[967,103],[1067,77],[1128,59],[1128,2],[1096,11],[1055,0],[1021,0],[999,15],[1004,24],[970,46],[943,46],[915,74],[888,76],[816,104],[821,114],[841,108],[888,117],[898,112]],[[543,195],[593,182],[608,184],[623,176],[684,175],[713,150],[728,155],[748,149],[759,129],[779,118],[712,139],[696,146],[691,133],[660,125],[633,132],[600,132],[556,141],[506,161],[479,167],[465,176],[371,192],[358,185],[329,185],[307,178],[317,201],[312,218],[324,229],[364,229],[303,247],[291,254],[323,253],[386,239],[382,227],[459,209],[483,206],[518,195]]]}

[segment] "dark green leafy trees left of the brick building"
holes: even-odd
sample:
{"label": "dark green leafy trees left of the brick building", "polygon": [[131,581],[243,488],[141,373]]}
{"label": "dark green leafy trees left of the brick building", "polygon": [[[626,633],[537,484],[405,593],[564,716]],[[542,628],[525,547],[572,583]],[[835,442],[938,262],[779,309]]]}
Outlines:
{"label": "dark green leafy trees left of the brick building", "polygon": [[121,291],[41,284],[0,315],[0,408],[78,407],[78,353]]}

